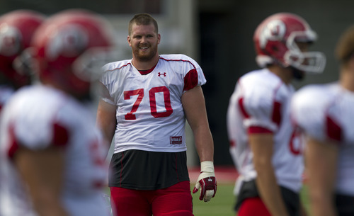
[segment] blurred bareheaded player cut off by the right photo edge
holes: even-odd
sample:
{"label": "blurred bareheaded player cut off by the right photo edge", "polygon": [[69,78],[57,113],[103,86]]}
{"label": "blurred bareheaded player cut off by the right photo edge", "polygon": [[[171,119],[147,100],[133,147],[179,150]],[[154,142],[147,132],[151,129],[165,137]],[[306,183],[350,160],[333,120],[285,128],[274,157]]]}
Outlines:
{"label": "blurred bareheaded player cut off by the right photo edge", "polygon": [[300,89],[292,118],[307,137],[312,215],[354,215],[354,26],[338,40],[339,80]]}

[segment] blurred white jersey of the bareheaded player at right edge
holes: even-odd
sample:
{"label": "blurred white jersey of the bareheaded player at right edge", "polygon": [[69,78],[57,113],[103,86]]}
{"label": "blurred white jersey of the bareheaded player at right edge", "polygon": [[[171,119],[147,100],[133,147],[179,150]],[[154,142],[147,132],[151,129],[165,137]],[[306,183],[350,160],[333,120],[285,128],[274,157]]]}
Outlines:
{"label": "blurred white jersey of the bareheaded player at right edge", "polygon": [[307,135],[319,141],[337,141],[336,189],[344,195],[354,195],[353,108],[353,91],[338,83],[305,86],[292,102],[292,118]]}

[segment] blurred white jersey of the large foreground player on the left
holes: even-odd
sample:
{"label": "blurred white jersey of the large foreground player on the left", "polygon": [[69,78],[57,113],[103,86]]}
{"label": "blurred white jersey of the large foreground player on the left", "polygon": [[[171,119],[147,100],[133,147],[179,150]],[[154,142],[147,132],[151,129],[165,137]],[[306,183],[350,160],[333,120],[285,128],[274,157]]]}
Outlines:
{"label": "blurred white jersey of the large foreground player on the left", "polygon": [[37,215],[13,163],[23,146],[64,149],[62,203],[69,215],[106,215],[102,190],[107,149],[89,107],[47,86],[30,86],[11,96],[1,112],[0,215]]}

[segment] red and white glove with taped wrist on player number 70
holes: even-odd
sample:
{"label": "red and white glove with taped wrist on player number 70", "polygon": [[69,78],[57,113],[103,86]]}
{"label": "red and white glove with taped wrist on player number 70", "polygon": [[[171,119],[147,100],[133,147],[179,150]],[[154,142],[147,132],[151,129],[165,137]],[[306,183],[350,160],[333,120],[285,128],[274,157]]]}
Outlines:
{"label": "red and white glove with taped wrist on player number 70", "polygon": [[214,164],[212,161],[202,161],[200,163],[200,175],[193,189],[197,193],[200,189],[199,200],[210,201],[217,193],[217,180],[215,178]]}

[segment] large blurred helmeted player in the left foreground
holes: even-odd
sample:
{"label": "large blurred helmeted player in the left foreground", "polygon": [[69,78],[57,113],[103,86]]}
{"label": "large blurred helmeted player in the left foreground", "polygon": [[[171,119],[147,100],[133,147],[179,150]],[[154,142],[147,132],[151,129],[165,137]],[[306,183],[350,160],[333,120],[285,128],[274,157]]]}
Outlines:
{"label": "large blurred helmeted player in the left foreground", "polygon": [[16,91],[1,112],[1,216],[109,215],[108,148],[88,100],[96,69],[87,66],[113,47],[111,33],[81,10],[36,30],[28,54],[40,82]]}

